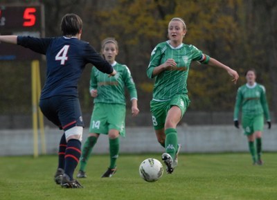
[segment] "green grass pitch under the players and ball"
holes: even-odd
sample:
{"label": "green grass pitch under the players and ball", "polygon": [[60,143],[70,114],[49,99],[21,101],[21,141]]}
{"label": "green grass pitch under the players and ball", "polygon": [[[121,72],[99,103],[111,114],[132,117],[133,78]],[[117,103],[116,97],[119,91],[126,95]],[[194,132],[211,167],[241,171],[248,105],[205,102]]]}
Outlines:
{"label": "green grass pitch under the players and ball", "polygon": [[251,165],[249,154],[181,154],[175,172],[164,173],[155,183],[139,176],[141,161],[149,157],[161,161],[159,154],[120,155],[118,172],[101,179],[109,157],[92,156],[88,178],[80,179],[82,189],[64,189],[54,183],[57,156],[0,157],[0,199],[277,199],[277,153],[265,153],[262,166]]}

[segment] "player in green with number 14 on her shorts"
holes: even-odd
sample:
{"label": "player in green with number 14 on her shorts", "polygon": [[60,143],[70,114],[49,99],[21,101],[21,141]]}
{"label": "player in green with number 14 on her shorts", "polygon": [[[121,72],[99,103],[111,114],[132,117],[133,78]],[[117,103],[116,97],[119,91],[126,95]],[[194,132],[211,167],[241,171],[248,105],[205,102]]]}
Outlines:
{"label": "player in green with number 14 on her shorts", "polygon": [[80,170],[78,178],[85,178],[85,168],[93,146],[96,144],[100,134],[109,136],[110,165],[102,177],[111,177],[116,172],[116,159],[119,152],[119,135],[125,136],[125,87],[130,93],[132,101],[132,116],[139,113],[137,105],[137,93],[132,75],[124,64],[116,62],[118,55],[118,43],[114,38],[104,39],[102,42],[102,54],[105,59],[116,69],[114,77],[107,78],[104,73],[91,71],[89,91],[94,98],[93,113],[89,127],[89,136],[82,148],[80,158]]}

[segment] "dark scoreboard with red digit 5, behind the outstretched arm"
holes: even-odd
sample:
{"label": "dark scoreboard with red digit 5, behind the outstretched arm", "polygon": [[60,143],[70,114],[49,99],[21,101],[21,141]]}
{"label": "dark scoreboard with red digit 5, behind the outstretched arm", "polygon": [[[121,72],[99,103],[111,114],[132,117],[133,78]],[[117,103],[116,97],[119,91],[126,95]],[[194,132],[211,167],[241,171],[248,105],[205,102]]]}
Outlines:
{"label": "dark scoreboard with red digit 5, behind the outstretched arm", "polygon": [[[0,35],[44,37],[44,6],[1,5]],[[40,60],[42,55],[14,44],[0,44],[0,60]]]}

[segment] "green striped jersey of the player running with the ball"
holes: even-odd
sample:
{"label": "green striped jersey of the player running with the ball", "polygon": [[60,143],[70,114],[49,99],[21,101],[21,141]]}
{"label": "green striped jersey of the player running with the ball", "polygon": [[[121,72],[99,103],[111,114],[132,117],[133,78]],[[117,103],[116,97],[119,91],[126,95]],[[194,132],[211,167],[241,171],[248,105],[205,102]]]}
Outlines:
{"label": "green striped jersey of the player running with the ball", "polygon": [[193,45],[181,44],[174,48],[169,44],[169,41],[162,42],[151,53],[147,70],[148,77],[154,78],[152,75],[154,68],[165,63],[168,59],[175,60],[177,66],[163,71],[155,77],[153,100],[170,100],[176,94],[188,93],[186,81],[190,63],[199,61],[207,64],[210,58]]}

